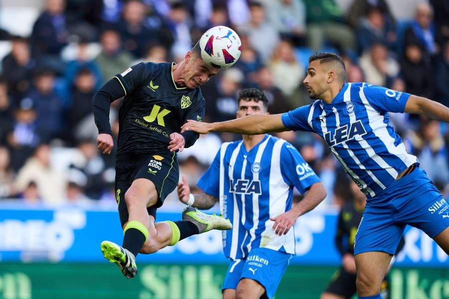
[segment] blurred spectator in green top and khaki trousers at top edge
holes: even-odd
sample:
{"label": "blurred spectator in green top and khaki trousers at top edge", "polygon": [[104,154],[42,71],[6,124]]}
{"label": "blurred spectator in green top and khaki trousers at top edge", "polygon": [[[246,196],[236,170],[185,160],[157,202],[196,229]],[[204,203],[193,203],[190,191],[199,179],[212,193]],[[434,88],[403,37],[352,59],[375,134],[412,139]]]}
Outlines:
{"label": "blurred spectator in green top and khaki trousers at top edge", "polygon": [[356,49],[351,28],[342,22],[340,7],[334,0],[303,0],[307,15],[309,47],[319,51],[330,42],[345,51]]}

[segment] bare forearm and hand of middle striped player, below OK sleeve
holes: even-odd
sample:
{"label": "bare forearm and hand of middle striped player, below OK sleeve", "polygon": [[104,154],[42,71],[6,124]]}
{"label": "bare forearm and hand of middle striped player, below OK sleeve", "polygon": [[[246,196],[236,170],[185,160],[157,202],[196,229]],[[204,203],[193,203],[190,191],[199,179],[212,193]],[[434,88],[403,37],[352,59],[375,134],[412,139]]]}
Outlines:
{"label": "bare forearm and hand of middle striped player, below OK sleeve", "polygon": [[304,198],[291,207],[291,210],[280,214],[277,217],[270,218],[274,221],[273,230],[276,235],[286,234],[295,224],[296,219],[305,213],[313,210],[326,197],[326,189],[322,182],[314,183],[310,186]]}

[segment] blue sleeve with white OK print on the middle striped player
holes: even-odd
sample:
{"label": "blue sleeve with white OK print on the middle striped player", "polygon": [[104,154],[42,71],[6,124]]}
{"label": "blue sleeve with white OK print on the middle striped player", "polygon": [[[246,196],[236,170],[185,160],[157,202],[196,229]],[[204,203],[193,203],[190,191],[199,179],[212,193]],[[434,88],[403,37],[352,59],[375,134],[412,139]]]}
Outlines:
{"label": "blue sleeve with white OK print on the middle striped player", "polygon": [[280,155],[280,168],[285,183],[295,186],[299,192],[304,193],[311,185],[321,181],[291,144],[284,143]]}

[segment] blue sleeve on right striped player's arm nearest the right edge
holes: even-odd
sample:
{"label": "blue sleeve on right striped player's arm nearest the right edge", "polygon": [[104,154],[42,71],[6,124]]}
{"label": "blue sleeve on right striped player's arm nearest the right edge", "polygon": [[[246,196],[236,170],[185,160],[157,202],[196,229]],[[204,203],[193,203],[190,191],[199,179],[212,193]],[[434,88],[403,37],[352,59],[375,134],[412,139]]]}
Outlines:
{"label": "blue sleeve on right striped player's arm nearest the right edge", "polygon": [[376,111],[404,113],[409,93],[388,89],[382,86],[365,84],[362,88],[368,103]]}

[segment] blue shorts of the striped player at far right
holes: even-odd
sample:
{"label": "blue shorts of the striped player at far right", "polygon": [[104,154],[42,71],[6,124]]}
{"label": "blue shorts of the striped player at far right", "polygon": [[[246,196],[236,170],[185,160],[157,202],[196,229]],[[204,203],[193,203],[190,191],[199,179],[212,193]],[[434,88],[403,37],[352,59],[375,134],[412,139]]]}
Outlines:
{"label": "blue shorts of the striped player at far right", "polygon": [[431,238],[449,226],[448,203],[419,167],[367,202],[354,254],[382,251],[394,255],[407,224]]}

